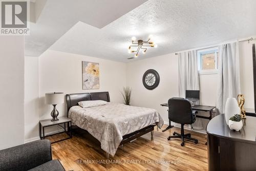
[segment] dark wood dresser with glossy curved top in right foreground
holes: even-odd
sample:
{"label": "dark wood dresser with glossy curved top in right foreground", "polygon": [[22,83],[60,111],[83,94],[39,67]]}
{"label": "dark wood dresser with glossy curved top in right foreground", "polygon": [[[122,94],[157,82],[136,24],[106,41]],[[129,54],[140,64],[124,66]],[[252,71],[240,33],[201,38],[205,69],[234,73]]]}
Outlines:
{"label": "dark wood dresser with glossy curved top in right foreground", "polygon": [[243,128],[231,131],[224,115],[210,120],[206,127],[208,139],[208,170],[256,170],[256,117],[246,116]]}

